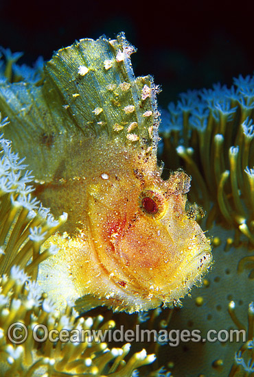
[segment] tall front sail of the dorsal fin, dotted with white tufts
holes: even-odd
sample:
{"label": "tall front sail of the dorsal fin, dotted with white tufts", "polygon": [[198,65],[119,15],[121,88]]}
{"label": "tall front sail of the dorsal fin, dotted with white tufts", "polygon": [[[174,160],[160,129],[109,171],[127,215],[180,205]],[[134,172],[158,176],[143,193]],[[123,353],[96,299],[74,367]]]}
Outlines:
{"label": "tall front sail of the dorsal fin, dotted with white tufts", "polygon": [[158,112],[152,77],[135,77],[130,54],[135,51],[119,34],[82,39],[60,49],[45,65],[47,80],[62,96],[85,132],[108,132],[126,143],[157,145]]}

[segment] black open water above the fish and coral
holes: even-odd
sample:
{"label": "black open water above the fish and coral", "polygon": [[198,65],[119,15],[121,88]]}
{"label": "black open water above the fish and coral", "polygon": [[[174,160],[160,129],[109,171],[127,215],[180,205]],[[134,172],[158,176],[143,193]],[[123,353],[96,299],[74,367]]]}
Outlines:
{"label": "black open water above the fish and coral", "polygon": [[0,45],[32,64],[76,39],[124,31],[135,74],[154,76],[165,107],[187,89],[253,73],[253,14],[251,2],[0,0]]}

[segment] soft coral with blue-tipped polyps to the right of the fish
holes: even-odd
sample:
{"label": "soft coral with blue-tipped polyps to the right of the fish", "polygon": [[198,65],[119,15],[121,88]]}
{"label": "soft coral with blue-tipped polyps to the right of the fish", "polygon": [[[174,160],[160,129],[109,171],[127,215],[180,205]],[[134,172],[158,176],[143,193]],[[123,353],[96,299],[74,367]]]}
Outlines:
{"label": "soft coral with blue-tipped polyps to the right of the fish", "polygon": [[[215,260],[203,287],[183,301],[170,324],[247,333],[241,347],[187,344],[189,363],[181,370],[189,376],[198,370],[209,376],[253,374],[253,79],[240,75],[230,88],[218,83],[181,93],[162,112],[163,159],[168,168],[176,164],[192,175],[190,201],[206,212]],[[178,350],[172,353],[179,360]]]}

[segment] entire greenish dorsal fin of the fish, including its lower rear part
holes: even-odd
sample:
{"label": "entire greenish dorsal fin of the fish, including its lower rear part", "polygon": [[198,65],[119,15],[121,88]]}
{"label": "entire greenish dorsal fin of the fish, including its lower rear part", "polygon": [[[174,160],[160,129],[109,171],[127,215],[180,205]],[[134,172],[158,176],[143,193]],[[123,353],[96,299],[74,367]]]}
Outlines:
{"label": "entire greenish dorsal fin of the fish, including its lower rear part", "polygon": [[124,34],[57,51],[39,84],[0,86],[3,130],[38,180],[50,180],[75,138],[107,135],[156,158],[159,112],[152,77],[135,77]]}

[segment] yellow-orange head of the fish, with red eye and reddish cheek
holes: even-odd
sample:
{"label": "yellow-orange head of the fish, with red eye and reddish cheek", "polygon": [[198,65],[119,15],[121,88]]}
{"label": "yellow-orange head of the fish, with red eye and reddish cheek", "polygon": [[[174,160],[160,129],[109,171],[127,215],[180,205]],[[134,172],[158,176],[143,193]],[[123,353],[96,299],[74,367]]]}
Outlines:
{"label": "yellow-orange head of the fish, with red eye and reddish cheek", "polygon": [[104,178],[89,188],[89,223],[112,283],[111,307],[132,312],[176,304],[212,260],[209,239],[186,210],[189,176],[179,170],[163,180],[160,169],[139,162]]}

